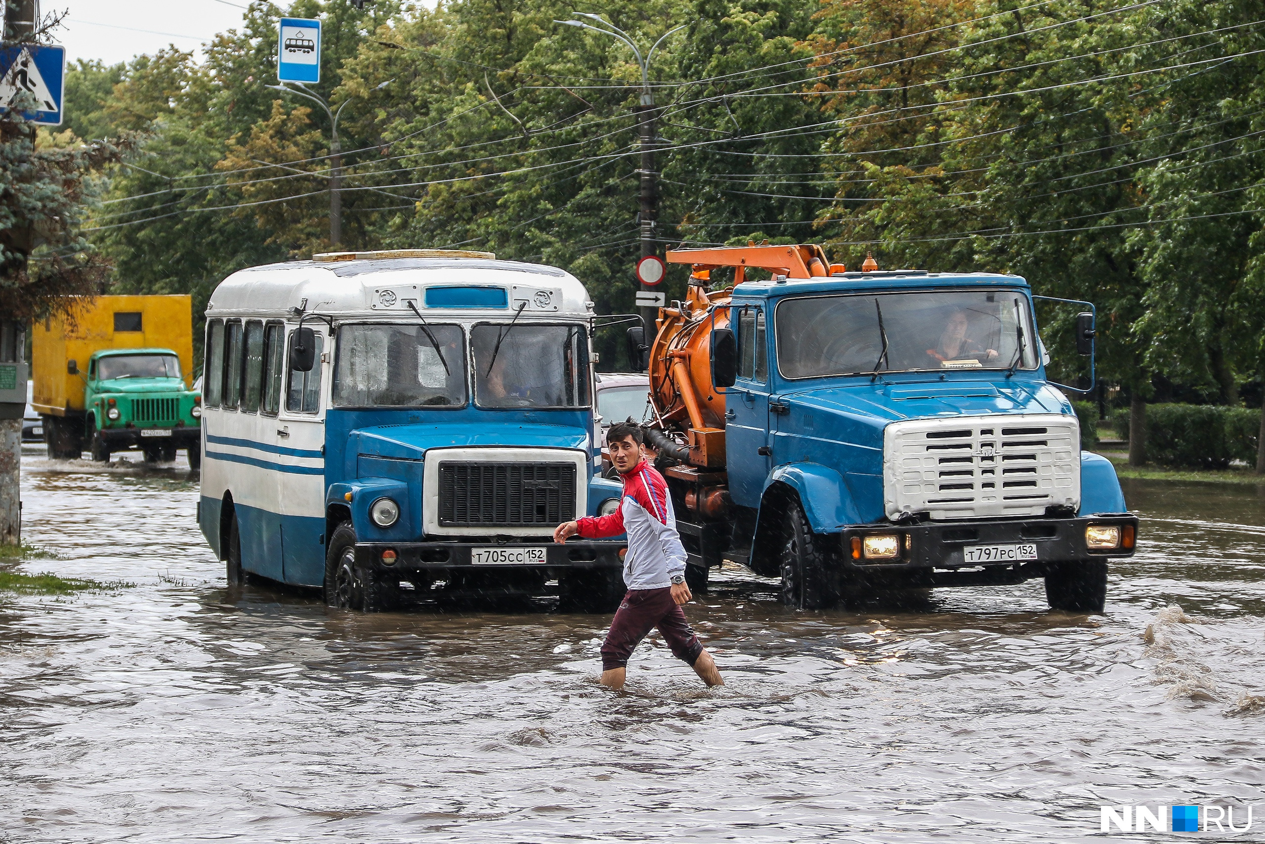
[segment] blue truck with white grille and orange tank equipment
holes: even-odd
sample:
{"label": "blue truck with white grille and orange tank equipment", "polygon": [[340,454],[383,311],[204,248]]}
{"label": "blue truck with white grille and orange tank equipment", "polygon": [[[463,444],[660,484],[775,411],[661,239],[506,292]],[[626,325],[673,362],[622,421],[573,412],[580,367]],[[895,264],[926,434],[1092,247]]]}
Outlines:
{"label": "blue truck with white grille and orange tank equipment", "polygon": [[[1027,281],[849,272],[816,245],[668,261],[687,299],[629,340],[696,588],[729,557],[802,609],[1040,577],[1052,609],[1103,610],[1137,518],[1046,378]],[[1092,361],[1092,309],[1074,323]]]}

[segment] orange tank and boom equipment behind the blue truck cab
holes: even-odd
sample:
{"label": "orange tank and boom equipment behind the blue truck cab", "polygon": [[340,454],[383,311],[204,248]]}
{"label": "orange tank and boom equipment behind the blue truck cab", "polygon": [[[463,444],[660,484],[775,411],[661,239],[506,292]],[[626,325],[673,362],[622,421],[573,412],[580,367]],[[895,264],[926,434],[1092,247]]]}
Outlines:
{"label": "orange tank and boom equipment behind the blue truck cab", "polygon": [[724,468],[725,392],[712,386],[711,333],[729,326],[734,289],[708,291],[711,271],[734,267],[739,285],[748,270],[813,278],[844,272],[844,266],[831,264],[816,244],[673,249],[668,263],[688,263],[693,272],[684,301],[659,309],[650,344],[650,400],[664,433],[688,447],[692,466]]}

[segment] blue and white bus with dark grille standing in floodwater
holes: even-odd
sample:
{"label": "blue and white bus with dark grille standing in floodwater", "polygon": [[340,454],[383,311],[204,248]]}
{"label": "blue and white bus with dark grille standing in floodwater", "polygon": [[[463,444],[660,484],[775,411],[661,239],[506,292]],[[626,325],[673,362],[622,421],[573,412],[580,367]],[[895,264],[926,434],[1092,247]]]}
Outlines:
{"label": "blue and white bus with dark grille standing in floodwater", "polygon": [[607,610],[621,543],[595,468],[593,304],[477,252],[329,253],[225,278],[206,307],[199,523],[229,585],[379,610],[401,590],[544,591]]}

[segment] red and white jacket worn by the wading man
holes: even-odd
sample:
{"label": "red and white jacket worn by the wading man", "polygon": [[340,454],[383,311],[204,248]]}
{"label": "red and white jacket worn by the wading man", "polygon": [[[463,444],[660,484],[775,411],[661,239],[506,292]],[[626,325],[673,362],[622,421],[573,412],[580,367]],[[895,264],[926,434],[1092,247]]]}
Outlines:
{"label": "red and white jacket worn by the wading man", "polygon": [[620,477],[624,480],[620,509],[608,516],[577,519],[579,535],[597,539],[626,533],[629,550],[624,555],[624,583],[630,590],[672,586],[672,576],[686,571],[686,549],[677,535],[668,482],[645,461]]}

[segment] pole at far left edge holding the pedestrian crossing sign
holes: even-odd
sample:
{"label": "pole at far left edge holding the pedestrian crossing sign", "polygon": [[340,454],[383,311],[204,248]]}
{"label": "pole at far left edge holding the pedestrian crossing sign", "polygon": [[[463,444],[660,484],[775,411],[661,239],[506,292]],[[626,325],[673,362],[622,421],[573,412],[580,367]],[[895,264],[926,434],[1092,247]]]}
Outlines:
{"label": "pole at far left edge holding the pedestrian crossing sign", "polygon": [[[39,0],[6,0],[4,38],[8,47],[30,40],[39,20]],[[35,127],[30,146],[35,146]],[[27,325],[0,319],[0,545],[22,544],[22,418],[27,410]]]}

